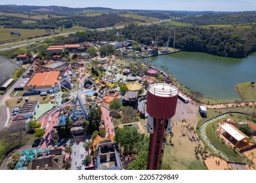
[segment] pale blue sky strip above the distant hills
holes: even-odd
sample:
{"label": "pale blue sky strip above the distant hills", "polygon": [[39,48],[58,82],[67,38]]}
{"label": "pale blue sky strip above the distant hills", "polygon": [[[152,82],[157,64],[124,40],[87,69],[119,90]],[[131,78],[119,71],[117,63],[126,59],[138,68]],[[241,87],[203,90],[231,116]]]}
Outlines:
{"label": "pale blue sky strip above the distant hills", "polygon": [[255,0],[1,0],[0,5],[58,5],[63,7],[108,7],[146,10],[256,10]]}

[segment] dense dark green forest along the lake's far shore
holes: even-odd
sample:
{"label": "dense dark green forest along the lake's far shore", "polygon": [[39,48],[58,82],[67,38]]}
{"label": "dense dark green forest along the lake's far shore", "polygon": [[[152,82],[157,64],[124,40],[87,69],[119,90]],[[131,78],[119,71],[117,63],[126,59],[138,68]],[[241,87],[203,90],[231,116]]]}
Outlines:
{"label": "dense dark green forest along the lake's far shore", "polygon": [[[116,37],[118,31],[119,37]],[[108,31],[81,31],[69,35],[68,39],[57,39],[53,44],[66,44],[83,41],[118,41],[131,39],[140,44],[155,40],[158,32],[158,46],[165,46],[169,37],[169,46],[173,46],[173,27],[161,25],[130,24],[123,29]],[[189,52],[205,52],[230,58],[244,58],[256,51],[256,27],[246,25],[223,27],[176,27],[175,48]]]}

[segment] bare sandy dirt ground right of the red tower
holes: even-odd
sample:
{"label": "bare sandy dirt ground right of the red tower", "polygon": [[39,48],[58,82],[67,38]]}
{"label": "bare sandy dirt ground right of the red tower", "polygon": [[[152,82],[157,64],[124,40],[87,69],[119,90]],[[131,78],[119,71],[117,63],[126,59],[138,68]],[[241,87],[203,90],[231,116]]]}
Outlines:
{"label": "bare sandy dirt ground right of the red tower", "polygon": [[[182,120],[186,122],[182,122]],[[171,138],[173,146],[165,145],[162,169],[206,169],[202,158],[196,159],[194,147],[203,143],[198,141],[196,135],[190,132],[187,126],[194,126],[201,119],[198,107],[191,103],[184,104],[178,100],[175,116],[172,118],[173,137],[167,137],[167,144]],[[184,134],[184,135],[182,135]],[[192,137],[194,136],[194,140]]]}

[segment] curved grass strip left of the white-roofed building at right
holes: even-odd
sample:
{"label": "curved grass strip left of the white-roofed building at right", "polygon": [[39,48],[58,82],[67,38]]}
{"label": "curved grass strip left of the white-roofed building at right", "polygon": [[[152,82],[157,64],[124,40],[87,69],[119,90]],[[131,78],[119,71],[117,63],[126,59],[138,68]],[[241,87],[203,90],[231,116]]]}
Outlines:
{"label": "curved grass strip left of the white-roofed building at right", "polygon": [[207,137],[215,146],[217,146],[219,149],[221,149],[227,156],[233,159],[233,161],[242,163],[242,158],[239,156],[237,152],[234,152],[234,150],[230,149],[226,144],[224,144],[221,139],[216,134],[215,125],[218,122],[214,122],[212,124],[207,125],[206,127],[206,134]]}

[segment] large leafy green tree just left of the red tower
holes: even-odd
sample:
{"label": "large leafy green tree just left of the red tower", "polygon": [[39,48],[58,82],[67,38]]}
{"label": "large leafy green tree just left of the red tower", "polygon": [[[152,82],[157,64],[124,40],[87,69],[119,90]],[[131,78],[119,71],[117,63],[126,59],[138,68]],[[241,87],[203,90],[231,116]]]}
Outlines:
{"label": "large leafy green tree just left of the red tower", "polygon": [[123,127],[115,131],[115,141],[123,148],[124,154],[137,152],[137,146],[140,140],[141,135],[135,127]]}

